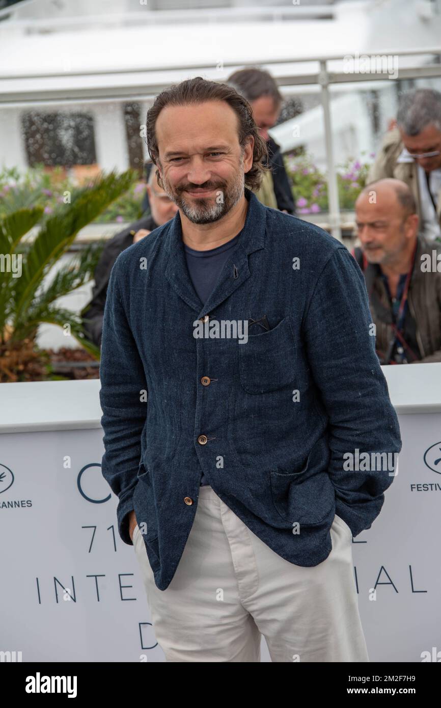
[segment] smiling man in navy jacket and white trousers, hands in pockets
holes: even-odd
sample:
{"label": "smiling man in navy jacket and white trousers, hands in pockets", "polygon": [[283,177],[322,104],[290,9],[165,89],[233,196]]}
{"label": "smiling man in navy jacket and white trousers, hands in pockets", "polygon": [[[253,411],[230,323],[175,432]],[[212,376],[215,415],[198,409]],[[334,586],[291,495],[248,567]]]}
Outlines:
{"label": "smiling man in navy jacket and white trousers, hands in pockets", "polygon": [[260,661],[262,634],[276,662],[369,661],[352,537],[394,465],[345,460],[401,439],[360,268],[253,194],[265,142],[231,86],[166,89],[147,139],[178,212],[113,267],[100,398],[156,639],[167,661]]}

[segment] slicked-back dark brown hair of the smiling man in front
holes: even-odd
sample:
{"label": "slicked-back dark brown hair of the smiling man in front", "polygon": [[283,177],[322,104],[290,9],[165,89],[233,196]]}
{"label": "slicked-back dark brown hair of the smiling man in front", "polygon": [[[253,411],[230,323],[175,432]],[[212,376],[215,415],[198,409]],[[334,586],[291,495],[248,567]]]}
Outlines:
{"label": "slicked-back dark brown hair of the smiling man in front", "polygon": [[[258,189],[267,169],[265,161],[268,160],[268,148],[265,140],[259,135],[251,105],[232,86],[217,81],[208,81],[202,79],[202,76],[181,81],[181,84],[173,84],[156,96],[153,105],[147,111],[146,120],[147,147],[151,160],[156,166],[159,163],[155,127],[161,110],[167,105],[199,105],[207,101],[225,101],[234,110],[238,119],[238,137],[242,150],[246,145],[247,138],[249,136],[254,138],[253,164],[245,175],[245,184],[251,190]],[[164,188],[158,169],[156,169],[156,178],[159,185]]]}

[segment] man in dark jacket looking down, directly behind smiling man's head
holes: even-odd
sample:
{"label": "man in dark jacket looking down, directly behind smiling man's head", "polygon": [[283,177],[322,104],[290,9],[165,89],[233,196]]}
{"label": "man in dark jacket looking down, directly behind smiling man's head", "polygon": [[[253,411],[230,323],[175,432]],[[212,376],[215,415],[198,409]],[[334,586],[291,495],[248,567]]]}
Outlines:
{"label": "man in dark jacket looking down, directly behind smiling man's head", "polygon": [[281,212],[294,215],[294,198],[292,197],[290,180],[283,164],[280,145],[268,133],[268,130],[277,122],[283,101],[273,76],[262,69],[251,67],[234,72],[227,83],[241,93],[251,105],[259,133],[267,144],[269,159],[266,166],[269,166],[271,170],[275,200],[274,203],[267,203],[266,206],[275,207],[277,205],[277,209]]}

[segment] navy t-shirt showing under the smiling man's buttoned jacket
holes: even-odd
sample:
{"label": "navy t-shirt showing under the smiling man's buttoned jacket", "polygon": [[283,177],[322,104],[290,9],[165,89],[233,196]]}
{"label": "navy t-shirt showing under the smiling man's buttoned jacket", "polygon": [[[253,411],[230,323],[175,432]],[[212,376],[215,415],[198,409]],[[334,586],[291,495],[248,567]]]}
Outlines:
{"label": "navy t-shirt showing under the smiling man's buttoned jacket", "polygon": [[[214,290],[222,268],[224,268],[225,263],[231,256],[232,249],[236,248],[240,235],[241,232],[234,236],[234,239],[227,241],[226,244],[217,246],[216,249],[210,249],[209,251],[195,251],[195,249],[190,249],[190,246],[183,244],[188,274],[197,292],[197,297],[200,298],[202,304],[207,302]],[[202,474],[200,484],[210,484],[205,474]]]}

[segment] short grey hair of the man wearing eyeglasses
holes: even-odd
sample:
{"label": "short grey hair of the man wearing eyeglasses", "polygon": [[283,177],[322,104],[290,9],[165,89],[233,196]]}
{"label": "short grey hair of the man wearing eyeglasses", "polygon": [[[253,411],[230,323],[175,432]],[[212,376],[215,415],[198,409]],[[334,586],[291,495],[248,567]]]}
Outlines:
{"label": "short grey hair of the man wearing eyeglasses", "polygon": [[406,135],[419,135],[427,125],[441,130],[441,93],[433,89],[415,89],[400,98],[396,124]]}

